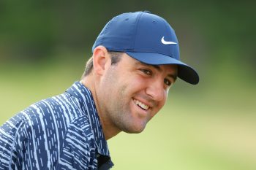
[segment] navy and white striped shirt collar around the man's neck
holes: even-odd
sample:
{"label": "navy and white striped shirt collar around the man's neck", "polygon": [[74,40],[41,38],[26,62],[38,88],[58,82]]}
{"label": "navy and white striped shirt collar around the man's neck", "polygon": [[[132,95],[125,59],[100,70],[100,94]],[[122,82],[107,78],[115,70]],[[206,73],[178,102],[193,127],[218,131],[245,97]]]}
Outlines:
{"label": "navy and white striped shirt collar around the man's neck", "polygon": [[86,88],[80,82],[74,82],[74,84],[66,90],[71,96],[78,98],[80,104],[80,109],[85,113],[89,119],[91,125],[91,130],[94,134],[94,139],[97,147],[97,152],[100,155],[110,155],[108,150],[108,144],[105,140],[103,134],[102,125],[99,121],[99,115],[94,103],[94,98],[92,97],[91,91],[89,88]]}

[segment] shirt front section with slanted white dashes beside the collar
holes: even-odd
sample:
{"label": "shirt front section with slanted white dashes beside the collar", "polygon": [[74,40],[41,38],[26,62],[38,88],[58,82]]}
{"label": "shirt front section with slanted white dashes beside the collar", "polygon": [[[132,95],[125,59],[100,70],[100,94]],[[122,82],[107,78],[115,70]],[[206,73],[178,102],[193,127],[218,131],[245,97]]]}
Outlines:
{"label": "shirt front section with slanted white dashes beside the collar", "polygon": [[89,169],[94,161],[89,139],[83,128],[70,124],[64,139],[59,163],[56,169]]}

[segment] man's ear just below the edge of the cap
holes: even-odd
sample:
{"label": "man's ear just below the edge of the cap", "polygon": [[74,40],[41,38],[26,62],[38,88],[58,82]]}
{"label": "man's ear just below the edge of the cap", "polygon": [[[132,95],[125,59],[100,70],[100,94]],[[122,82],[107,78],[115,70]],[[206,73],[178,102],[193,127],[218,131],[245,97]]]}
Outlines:
{"label": "man's ear just below the edge of the cap", "polygon": [[102,75],[108,68],[111,58],[108,55],[108,50],[103,46],[98,46],[94,49],[94,72]]}

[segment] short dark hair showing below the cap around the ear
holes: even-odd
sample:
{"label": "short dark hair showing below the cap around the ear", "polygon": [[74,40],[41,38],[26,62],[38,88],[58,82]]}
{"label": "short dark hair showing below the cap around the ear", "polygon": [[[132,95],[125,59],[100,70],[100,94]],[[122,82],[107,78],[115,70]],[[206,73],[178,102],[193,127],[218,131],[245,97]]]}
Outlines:
{"label": "short dark hair showing below the cap around the ear", "polygon": [[[121,52],[116,52],[116,51],[108,51],[108,53],[111,56],[111,65],[115,65],[121,60]],[[94,68],[94,62],[93,62],[93,56],[89,58],[89,60],[86,62],[86,68],[84,69],[83,77],[86,77],[91,73],[91,70]]]}

